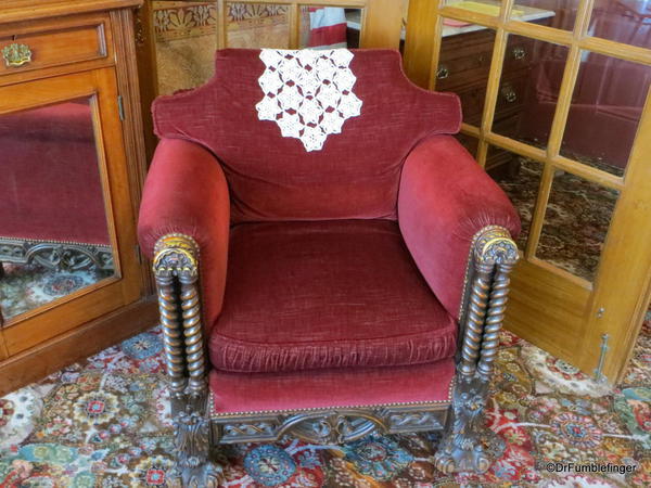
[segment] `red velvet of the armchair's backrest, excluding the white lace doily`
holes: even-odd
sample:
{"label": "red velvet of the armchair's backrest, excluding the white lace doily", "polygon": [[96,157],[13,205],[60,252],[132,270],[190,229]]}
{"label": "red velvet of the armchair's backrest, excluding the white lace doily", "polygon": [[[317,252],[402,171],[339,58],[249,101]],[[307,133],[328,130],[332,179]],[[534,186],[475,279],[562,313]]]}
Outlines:
{"label": "red velvet of the armchair's backrest, excluding the white lace doily", "polygon": [[395,219],[405,156],[429,134],[458,131],[459,100],[410,84],[397,51],[353,53],[361,115],[329,136],[321,151],[307,153],[299,140],[281,137],[276,123],[258,120],[265,70],[259,50],[218,51],[210,81],[158,98],[156,133],[194,141],[217,155],[233,222]]}

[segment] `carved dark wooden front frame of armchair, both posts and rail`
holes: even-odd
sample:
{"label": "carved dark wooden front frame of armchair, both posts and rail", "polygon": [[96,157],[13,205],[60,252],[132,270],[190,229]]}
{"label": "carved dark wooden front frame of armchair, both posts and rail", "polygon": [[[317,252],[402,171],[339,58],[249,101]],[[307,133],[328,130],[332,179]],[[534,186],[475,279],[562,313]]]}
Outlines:
{"label": "carved dark wooden front frame of armchair, both posts and rail", "polygon": [[217,486],[221,467],[210,461],[219,444],[273,441],[292,435],[309,442],[348,442],[384,434],[444,431],[435,454],[444,473],[486,471],[503,446],[484,425],[484,408],[509,293],[519,258],[509,231],[482,229],[473,239],[461,303],[457,374],[450,401],[359,408],[217,414],[207,384],[199,288],[199,246],[167,234],[154,249],[153,269],[164,332],[177,466],[176,486]]}

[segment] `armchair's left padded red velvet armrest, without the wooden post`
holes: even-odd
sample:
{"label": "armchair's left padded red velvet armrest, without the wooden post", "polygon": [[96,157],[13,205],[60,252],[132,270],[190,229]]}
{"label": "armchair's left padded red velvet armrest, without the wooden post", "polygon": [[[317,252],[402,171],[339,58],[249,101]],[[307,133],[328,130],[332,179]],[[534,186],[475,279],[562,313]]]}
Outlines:
{"label": "armchair's left padded red velvet armrest, without the wooden post", "polygon": [[229,219],[228,185],[215,156],[193,142],[162,139],[144,183],[138,237],[150,259],[169,234],[194,241],[201,288],[209,291],[202,297],[208,330],[221,310]]}

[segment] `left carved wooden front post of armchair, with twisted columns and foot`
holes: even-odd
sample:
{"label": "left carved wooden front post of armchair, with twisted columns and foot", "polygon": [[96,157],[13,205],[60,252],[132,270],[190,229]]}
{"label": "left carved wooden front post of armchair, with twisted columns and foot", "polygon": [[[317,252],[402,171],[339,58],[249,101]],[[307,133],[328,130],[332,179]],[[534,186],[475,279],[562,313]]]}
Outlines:
{"label": "left carved wooden front post of armchair, with twisted columns and foot", "polygon": [[177,465],[171,486],[217,487],[222,468],[210,461],[208,385],[199,294],[199,246],[168,234],[154,249]]}

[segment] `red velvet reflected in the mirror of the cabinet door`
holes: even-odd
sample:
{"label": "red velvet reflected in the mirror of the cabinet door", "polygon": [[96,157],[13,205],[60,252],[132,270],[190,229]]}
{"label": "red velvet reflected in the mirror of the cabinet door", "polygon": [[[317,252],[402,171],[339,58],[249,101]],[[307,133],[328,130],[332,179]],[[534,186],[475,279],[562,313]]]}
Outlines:
{"label": "red velvet reflected in the mirror of the cabinet door", "polygon": [[110,244],[87,103],[0,117],[0,236]]}

